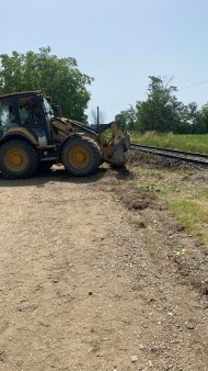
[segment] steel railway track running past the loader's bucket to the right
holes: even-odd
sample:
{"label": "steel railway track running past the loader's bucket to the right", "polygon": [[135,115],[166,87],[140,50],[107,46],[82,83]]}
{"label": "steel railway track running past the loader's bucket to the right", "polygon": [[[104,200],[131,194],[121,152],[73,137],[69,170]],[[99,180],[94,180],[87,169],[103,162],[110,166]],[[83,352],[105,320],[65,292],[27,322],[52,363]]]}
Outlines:
{"label": "steel railway track running past the loader's bucket to the right", "polygon": [[157,155],[157,156],[174,158],[174,159],[186,161],[186,162],[208,166],[208,154],[199,154],[199,153],[192,153],[192,151],[177,150],[177,149],[171,149],[171,148],[146,146],[146,145],[136,144],[136,143],[130,144],[130,149],[140,150],[140,151]]}

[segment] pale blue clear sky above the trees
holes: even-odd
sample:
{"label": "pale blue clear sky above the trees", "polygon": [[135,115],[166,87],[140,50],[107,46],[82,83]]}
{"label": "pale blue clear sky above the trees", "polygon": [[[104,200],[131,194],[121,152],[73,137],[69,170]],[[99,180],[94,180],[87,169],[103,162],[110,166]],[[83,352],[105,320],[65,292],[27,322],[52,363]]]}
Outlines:
{"label": "pale blue clear sky above the trees", "polygon": [[86,114],[105,122],[147,99],[149,76],[173,78],[178,100],[208,102],[208,0],[0,0],[0,54],[74,57],[94,78]]}

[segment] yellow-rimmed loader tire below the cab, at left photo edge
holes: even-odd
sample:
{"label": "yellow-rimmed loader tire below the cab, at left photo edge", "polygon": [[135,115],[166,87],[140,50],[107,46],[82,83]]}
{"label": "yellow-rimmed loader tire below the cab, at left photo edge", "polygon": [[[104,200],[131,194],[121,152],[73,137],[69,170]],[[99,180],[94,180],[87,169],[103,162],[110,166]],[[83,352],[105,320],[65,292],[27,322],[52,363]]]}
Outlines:
{"label": "yellow-rimmed loader tire below the cab, at left photo edge", "polygon": [[30,178],[37,166],[37,150],[30,143],[11,139],[0,147],[0,169],[7,179]]}

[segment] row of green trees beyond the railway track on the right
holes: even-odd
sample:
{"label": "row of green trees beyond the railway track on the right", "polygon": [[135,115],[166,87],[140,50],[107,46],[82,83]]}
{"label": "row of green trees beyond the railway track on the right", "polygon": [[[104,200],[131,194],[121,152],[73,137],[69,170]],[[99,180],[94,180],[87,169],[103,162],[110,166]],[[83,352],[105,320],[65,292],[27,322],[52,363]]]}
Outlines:
{"label": "row of green trees beyond the railway track on the right", "polygon": [[148,98],[138,101],[115,116],[115,121],[130,132],[175,134],[208,133],[208,104],[201,109],[195,102],[187,105],[180,102],[175,95],[177,88],[171,80],[150,76]]}

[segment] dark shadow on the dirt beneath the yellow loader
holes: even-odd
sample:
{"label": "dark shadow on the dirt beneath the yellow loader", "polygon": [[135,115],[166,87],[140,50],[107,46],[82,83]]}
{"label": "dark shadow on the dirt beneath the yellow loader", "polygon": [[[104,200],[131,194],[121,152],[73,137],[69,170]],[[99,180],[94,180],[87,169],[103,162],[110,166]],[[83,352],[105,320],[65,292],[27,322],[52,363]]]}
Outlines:
{"label": "dark shadow on the dirt beneath the yellow loader", "polygon": [[44,172],[38,172],[30,179],[8,180],[0,172],[0,189],[7,187],[44,187],[49,182],[68,182],[76,184],[93,183],[102,179],[106,173],[106,169],[99,169],[95,175],[88,177],[72,177],[66,173],[62,168],[49,169]]}

